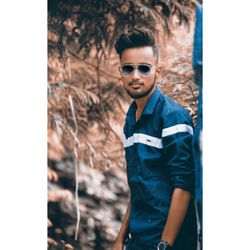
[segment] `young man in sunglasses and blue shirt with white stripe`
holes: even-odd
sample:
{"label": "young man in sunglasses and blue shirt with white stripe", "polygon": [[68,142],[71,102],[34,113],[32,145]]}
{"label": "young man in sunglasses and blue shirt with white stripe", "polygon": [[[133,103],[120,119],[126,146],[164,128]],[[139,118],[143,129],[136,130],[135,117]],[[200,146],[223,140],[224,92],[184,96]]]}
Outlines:
{"label": "young man in sunglasses and blue shirt with white stripe", "polygon": [[113,250],[196,250],[192,120],[156,87],[158,47],[147,29],[115,44],[124,89],[134,99],[124,126],[131,197]]}

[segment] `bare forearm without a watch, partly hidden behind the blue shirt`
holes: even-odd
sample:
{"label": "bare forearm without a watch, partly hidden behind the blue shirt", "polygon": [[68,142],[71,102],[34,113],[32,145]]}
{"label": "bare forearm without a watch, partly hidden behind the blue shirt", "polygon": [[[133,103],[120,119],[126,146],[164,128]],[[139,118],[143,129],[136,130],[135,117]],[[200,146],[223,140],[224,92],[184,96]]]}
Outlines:
{"label": "bare forearm without a watch, partly hidden behind the blue shirt", "polygon": [[128,202],[127,210],[125,216],[122,221],[122,225],[118,236],[115,240],[115,244],[112,250],[123,250],[124,239],[127,234],[128,226],[129,226],[129,219],[130,219],[130,201]]}

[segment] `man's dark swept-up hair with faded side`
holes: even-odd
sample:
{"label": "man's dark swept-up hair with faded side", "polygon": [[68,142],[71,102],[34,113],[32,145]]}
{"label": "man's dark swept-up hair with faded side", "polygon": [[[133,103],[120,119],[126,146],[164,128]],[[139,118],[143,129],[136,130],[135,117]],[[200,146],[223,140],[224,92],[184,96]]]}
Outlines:
{"label": "man's dark swept-up hair with faded side", "polygon": [[120,58],[124,50],[150,46],[159,61],[159,47],[155,42],[153,32],[147,28],[133,28],[120,35],[115,43],[116,52]]}

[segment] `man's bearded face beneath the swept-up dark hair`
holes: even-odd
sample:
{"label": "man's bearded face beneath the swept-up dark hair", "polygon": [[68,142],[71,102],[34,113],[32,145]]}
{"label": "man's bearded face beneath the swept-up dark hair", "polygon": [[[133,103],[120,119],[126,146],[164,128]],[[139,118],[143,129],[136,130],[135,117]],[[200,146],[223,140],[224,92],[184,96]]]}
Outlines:
{"label": "man's bearded face beneath the swept-up dark hair", "polygon": [[[160,74],[160,67],[157,66],[157,60],[153,54],[152,47],[126,49],[123,51],[120,61],[121,66],[142,65],[141,68],[139,66],[139,69],[136,66],[130,74],[121,74],[123,87],[128,95],[133,99],[139,99],[150,94]],[[145,70],[145,66],[143,68],[143,65],[150,67],[150,71],[146,74],[142,71]]]}

